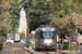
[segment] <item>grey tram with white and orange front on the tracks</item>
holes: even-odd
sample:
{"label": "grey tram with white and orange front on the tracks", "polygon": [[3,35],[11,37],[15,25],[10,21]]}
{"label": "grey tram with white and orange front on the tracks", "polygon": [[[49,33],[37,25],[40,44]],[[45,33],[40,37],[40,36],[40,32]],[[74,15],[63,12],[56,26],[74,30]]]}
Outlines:
{"label": "grey tram with white and orange front on the tracks", "polygon": [[36,49],[57,49],[57,29],[54,27],[39,27],[35,33]]}

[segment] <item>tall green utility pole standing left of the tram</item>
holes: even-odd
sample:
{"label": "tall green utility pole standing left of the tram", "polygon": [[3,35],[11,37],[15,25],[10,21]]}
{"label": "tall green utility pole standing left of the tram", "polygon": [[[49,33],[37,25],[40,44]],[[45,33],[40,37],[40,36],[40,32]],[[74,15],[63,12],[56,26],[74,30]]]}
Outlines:
{"label": "tall green utility pole standing left of the tram", "polygon": [[30,0],[27,0],[27,43],[26,43],[26,48],[30,48]]}

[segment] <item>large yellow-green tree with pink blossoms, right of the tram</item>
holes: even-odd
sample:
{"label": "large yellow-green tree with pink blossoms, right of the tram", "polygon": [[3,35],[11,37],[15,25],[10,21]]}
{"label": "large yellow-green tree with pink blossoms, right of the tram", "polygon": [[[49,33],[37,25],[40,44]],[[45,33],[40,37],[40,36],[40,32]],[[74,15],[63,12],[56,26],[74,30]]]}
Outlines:
{"label": "large yellow-green tree with pink blossoms, right of the tram", "polygon": [[77,38],[75,29],[82,28],[82,1],[78,0],[51,0],[49,19],[51,19],[50,25],[58,28],[59,35],[61,37],[68,32],[68,36],[72,35],[74,39]]}

